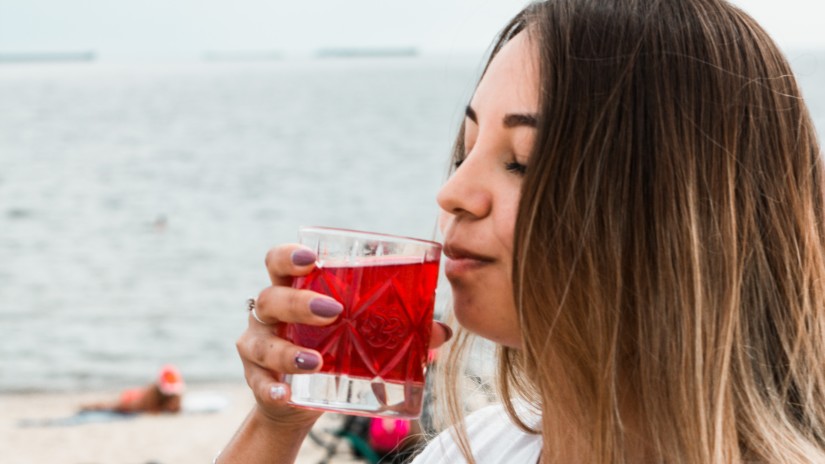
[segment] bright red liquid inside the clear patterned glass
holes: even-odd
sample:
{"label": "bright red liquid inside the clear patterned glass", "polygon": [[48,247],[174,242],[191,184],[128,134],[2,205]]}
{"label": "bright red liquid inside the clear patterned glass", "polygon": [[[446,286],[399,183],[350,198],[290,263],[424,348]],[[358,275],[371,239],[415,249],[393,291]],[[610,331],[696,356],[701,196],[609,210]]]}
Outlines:
{"label": "bright red liquid inside the clear patterned glass", "polygon": [[437,280],[438,261],[316,268],[292,286],[329,295],[344,311],[328,326],[288,324],[286,338],[318,350],[323,373],[423,383]]}

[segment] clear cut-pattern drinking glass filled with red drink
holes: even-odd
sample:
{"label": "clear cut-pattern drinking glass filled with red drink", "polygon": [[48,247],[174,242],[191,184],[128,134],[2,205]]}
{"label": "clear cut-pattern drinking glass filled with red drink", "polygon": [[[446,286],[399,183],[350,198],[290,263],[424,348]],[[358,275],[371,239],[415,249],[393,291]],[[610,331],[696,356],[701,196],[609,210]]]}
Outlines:
{"label": "clear cut-pattern drinking glass filled with red drink", "polygon": [[291,403],[378,417],[421,414],[441,245],[372,232],[302,227],[315,269],[293,287],[344,306],[327,326],[287,324],[286,338],[323,356],[320,372],[288,375]]}

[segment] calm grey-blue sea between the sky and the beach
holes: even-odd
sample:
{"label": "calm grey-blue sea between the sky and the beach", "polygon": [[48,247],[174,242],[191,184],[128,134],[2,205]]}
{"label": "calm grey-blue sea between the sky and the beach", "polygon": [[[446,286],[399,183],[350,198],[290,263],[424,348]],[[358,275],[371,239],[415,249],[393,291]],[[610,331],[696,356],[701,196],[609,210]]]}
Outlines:
{"label": "calm grey-blue sea between the sky and the beach", "polygon": [[[825,53],[789,55],[824,134]],[[167,362],[241,381],[267,249],[304,224],[434,236],[478,70],[0,65],[0,392],[141,384]]]}

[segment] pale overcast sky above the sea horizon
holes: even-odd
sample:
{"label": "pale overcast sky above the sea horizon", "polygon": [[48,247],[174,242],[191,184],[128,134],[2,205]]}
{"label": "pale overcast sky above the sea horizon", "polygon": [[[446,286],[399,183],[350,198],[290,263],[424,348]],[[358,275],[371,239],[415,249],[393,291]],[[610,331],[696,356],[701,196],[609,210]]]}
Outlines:
{"label": "pale overcast sky above the sea horizon", "polygon": [[[669,0],[670,1],[670,0]],[[678,1],[678,0],[672,0]],[[735,0],[784,48],[825,49],[825,2]],[[325,47],[478,52],[524,0],[0,0],[0,52]]]}

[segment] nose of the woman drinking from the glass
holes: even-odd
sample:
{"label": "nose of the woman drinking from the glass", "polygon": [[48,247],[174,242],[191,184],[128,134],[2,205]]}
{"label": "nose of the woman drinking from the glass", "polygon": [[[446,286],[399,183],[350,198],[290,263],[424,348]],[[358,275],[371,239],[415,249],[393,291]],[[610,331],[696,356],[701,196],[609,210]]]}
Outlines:
{"label": "nose of the woman drinking from the glass", "polygon": [[480,157],[468,156],[441,187],[438,206],[454,216],[482,218],[490,213],[492,196]]}

